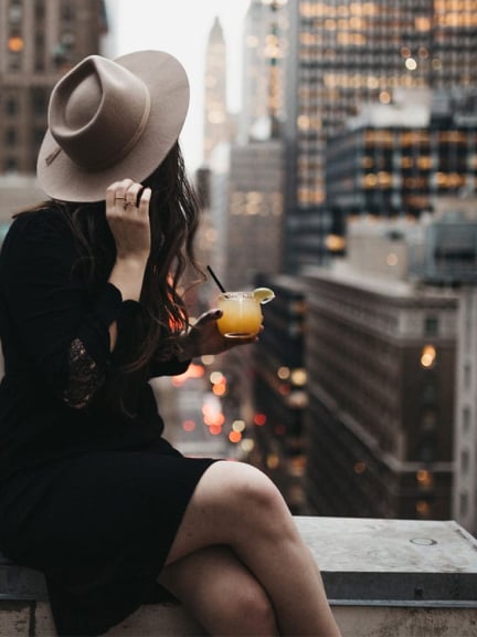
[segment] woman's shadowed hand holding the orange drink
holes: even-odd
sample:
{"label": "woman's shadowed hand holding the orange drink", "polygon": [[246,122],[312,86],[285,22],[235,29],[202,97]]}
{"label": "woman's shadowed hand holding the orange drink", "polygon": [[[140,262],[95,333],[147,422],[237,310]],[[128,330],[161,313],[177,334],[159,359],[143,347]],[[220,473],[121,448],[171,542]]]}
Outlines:
{"label": "woman's shadowed hand holding the orange drink", "polygon": [[257,336],[245,338],[226,338],[222,336],[216,326],[216,321],[221,316],[222,310],[210,310],[197,320],[188,334],[180,338],[180,361],[188,361],[206,354],[221,354],[237,345],[247,345],[258,341]]}

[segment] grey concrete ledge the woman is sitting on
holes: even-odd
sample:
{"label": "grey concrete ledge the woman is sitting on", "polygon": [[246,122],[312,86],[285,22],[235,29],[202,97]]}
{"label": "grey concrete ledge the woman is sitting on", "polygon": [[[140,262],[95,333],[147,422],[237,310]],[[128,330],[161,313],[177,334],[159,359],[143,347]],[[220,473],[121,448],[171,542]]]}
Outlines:
{"label": "grey concrete ledge the woman is sitting on", "polygon": [[[344,637],[474,637],[477,540],[453,521],[298,516]],[[0,558],[0,635],[55,635],[41,574]],[[204,635],[181,607],[144,606],[108,637]]]}

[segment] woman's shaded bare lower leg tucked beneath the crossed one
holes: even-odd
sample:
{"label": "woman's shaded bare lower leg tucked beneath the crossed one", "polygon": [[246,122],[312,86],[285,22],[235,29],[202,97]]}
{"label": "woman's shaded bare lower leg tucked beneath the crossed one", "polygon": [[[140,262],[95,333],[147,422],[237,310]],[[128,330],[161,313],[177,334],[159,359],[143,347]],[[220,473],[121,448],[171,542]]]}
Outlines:
{"label": "woman's shaded bare lower leg tucked beneath the crossed one", "polygon": [[278,635],[268,596],[226,546],[201,549],[178,560],[159,581],[210,635]]}

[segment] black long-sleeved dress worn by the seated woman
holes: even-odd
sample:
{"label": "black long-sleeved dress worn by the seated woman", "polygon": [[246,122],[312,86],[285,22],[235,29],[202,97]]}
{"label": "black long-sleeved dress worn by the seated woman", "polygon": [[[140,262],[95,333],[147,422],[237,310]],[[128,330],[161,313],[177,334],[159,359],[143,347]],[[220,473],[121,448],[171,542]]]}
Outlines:
{"label": "black long-sleeved dress worn by the seated woman", "polygon": [[110,407],[142,311],[107,278],[92,284],[78,253],[54,208],[20,216],[0,253],[0,546],[44,572],[60,635],[99,635],[167,597],[158,574],[213,460],[162,437],[148,379],[187,364],[151,365],[126,413]]}

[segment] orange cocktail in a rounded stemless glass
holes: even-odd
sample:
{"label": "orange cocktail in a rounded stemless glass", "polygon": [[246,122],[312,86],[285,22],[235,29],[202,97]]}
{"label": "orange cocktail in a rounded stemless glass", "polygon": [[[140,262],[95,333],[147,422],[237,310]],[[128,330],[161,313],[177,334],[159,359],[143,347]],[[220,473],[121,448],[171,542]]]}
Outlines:
{"label": "orange cocktail in a rounded stemless glass", "polygon": [[224,292],[218,307],[223,314],[218,320],[219,332],[227,338],[246,338],[258,334],[262,309],[253,292]]}

